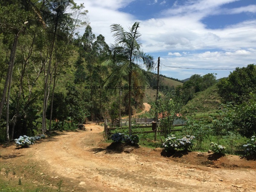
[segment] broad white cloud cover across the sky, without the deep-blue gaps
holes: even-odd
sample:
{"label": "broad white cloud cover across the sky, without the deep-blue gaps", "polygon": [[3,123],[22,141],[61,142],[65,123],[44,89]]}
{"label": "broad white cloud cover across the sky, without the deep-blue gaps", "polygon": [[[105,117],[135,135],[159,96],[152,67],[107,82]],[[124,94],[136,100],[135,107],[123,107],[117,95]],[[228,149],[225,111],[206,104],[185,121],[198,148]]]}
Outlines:
{"label": "broad white cloud cover across the sky, without the deep-blue gaps", "polygon": [[[176,67],[235,68],[254,63],[256,60],[255,19],[221,29],[207,28],[201,21],[209,15],[254,13],[256,5],[222,9],[221,5],[237,0],[189,0],[185,4],[178,4],[178,1],[175,1],[173,4],[175,6],[162,10],[163,14],[158,18],[137,20],[132,14],[119,11],[120,8],[129,6],[132,1],[135,0],[88,0],[85,6],[89,11],[88,15],[95,35],[102,34],[110,44],[114,42],[110,32],[111,24],[118,23],[127,29],[135,21],[140,21],[143,51],[161,56],[163,63],[168,64],[172,61],[172,65]],[[75,2],[84,1],[75,0]],[[151,2],[156,3],[156,0]],[[161,0],[158,3],[166,4],[166,1]],[[160,54],[161,52],[164,52],[163,55]],[[192,72],[185,69],[175,70],[180,72],[180,77],[173,77],[179,79],[189,77],[185,76],[186,73],[191,75],[196,73],[193,70]],[[168,73],[171,69],[163,67],[162,71]],[[222,76],[217,77],[223,76],[228,76],[228,72],[226,75],[223,72]]]}

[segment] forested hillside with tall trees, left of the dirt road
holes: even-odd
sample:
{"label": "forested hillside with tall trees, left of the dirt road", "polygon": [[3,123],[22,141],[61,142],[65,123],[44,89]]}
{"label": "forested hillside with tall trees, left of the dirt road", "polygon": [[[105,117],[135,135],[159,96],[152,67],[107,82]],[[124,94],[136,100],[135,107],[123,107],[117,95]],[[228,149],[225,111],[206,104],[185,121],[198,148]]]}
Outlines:
{"label": "forested hillside with tall trees, left of the dirt road", "polygon": [[[152,80],[142,67],[150,71],[155,63],[140,50],[139,23],[128,31],[112,25],[116,41],[108,45],[103,35],[94,35],[83,4],[13,0],[0,5],[2,141],[143,108]],[[124,39],[134,33],[137,41]],[[134,57],[126,57],[129,47]]]}

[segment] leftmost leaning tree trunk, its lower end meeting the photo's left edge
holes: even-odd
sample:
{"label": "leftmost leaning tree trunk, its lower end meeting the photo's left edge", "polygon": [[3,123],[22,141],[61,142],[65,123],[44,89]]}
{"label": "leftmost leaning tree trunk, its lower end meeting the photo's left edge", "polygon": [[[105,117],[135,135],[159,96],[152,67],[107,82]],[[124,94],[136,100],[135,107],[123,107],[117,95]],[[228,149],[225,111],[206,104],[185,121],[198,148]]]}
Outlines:
{"label": "leftmost leaning tree trunk, its lower end meeting the photo's left edge", "polygon": [[1,116],[2,116],[2,112],[3,112],[4,100],[5,100],[9,80],[10,80],[10,78],[12,79],[11,70],[12,70],[12,67],[13,67],[13,64],[14,64],[14,60],[15,60],[17,43],[18,43],[18,35],[15,34],[13,44],[12,44],[12,50],[11,50],[11,54],[10,54],[8,71],[7,71],[6,80],[5,80],[5,84],[4,84],[4,90],[3,90],[1,103],[0,103],[0,119],[1,119]]}

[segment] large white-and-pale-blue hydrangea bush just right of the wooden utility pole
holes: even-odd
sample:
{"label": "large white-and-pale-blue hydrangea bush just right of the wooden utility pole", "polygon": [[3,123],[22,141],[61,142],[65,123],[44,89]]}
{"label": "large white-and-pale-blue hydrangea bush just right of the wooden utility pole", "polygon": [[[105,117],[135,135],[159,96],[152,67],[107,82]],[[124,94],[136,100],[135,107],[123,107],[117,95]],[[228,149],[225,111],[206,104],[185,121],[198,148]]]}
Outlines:
{"label": "large white-and-pale-blue hydrangea bush just right of the wooden utility pole", "polygon": [[165,151],[171,151],[171,150],[178,150],[178,149],[185,149],[188,150],[189,148],[192,148],[194,143],[193,140],[195,139],[195,136],[193,135],[186,135],[182,139],[177,139],[175,135],[170,135],[167,138],[165,138],[163,147]]}

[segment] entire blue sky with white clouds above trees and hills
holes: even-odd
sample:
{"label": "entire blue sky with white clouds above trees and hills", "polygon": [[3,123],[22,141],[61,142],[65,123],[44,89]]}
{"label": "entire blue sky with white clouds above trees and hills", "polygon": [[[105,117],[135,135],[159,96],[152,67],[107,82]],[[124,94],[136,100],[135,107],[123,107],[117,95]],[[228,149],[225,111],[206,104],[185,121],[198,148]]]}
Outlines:
{"label": "entire blue sky with white clouds above trees and hills", "polygon": [[[140,22],[143,51],[160,57],[161,74],[185,79],[193,74],[232,70],[256,63],[256,0],[75,0],[84,3],[95,35],[114,42],[110,25]],[[80,32],[83,34],[83,31]]]}

